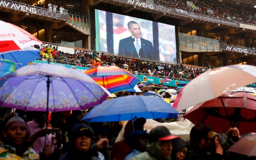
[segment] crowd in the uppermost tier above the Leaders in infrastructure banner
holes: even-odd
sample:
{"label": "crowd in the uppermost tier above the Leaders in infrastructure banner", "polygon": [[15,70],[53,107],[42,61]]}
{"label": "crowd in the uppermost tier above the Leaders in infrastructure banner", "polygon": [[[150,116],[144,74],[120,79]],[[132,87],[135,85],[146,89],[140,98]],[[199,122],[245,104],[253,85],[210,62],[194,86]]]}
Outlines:
{"label": "crowd in the uppermost tier above the Leaders in infrastructure banner", "polygon": [[[154,3],[175,9],[181,9],[189,12],[196,12],[216,18],[230,19],[238,22],[248,23],[255,25],[255,8],[248,6],[229,4],[211,0],[190,0],[194,6],[199,7],[199,10],[194,10],[192,7],[187,6],[186,0],[155,0]],[[213,10],[213,14],[207,10]]]}

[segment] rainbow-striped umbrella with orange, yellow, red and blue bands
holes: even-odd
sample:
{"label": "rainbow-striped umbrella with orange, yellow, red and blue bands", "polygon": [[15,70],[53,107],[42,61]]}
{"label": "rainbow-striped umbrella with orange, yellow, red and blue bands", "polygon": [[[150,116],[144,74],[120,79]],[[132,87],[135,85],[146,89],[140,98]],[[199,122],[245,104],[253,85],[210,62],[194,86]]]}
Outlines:
{"label": "rainbow-striped umbrella with orange, yellow, red and blue bands", "polygon": [[86,69],[84,73],[110,93],[133,89],[141,81],[139,77],[117,66],[99,66]]}

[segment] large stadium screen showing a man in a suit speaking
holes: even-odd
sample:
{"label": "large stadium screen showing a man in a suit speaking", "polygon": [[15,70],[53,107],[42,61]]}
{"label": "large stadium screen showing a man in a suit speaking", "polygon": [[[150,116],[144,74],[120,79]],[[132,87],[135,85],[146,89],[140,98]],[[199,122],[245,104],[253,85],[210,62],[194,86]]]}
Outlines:
{"label": "large stadium screen showing a man in a suit speaking", "polygon": [[95,10],[96,50],[177,62],[175,26]]}

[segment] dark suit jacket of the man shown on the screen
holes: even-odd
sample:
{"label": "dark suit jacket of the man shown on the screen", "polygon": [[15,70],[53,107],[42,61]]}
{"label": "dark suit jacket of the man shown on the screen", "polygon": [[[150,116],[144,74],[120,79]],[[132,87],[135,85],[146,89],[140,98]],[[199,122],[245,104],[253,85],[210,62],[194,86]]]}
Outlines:
{"label": "dark suit jacket of the man shown on the screen", "polygon": [[[140,52],[140,58],[159,60],[159,55],[156,55],[153,45],[150,41],[140,38],[140,42],[141,42],[140,47],[143,50],[143,52]],[[132,40],[132,36],[121,39],[119,41],[118,54],[122,54],[125,56],[139,57]],[[153,54],[153,57],[152,57],[152,54]]]}

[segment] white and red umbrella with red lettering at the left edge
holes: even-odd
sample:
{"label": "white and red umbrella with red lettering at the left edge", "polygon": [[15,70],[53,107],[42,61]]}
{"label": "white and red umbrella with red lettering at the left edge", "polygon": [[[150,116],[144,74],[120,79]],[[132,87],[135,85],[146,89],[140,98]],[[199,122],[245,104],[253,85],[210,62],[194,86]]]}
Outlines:
{"label": "white and red umbrella with red lettering at the left edge", "polygon": [[0,52],[20,50],[36,44],[42,42],[24,29],[0,20]]}

